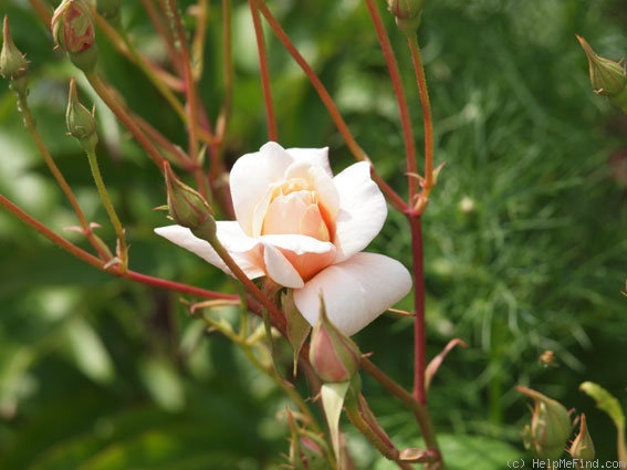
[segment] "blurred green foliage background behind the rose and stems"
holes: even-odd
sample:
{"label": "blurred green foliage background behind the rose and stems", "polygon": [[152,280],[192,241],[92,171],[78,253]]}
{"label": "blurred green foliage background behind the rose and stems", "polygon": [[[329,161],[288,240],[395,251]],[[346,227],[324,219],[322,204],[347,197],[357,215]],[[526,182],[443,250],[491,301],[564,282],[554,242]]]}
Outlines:
{"label": "blurred green foliage background behind the rose and stems", "polygon": [[[122,22],[138,46],[164,56],[139,2]],[[189,2],[182,2],[182,9]],[[215,3],[215,4],[213,4]],[[211,2],[201,94],[221,104],[220,4]],[[311,61],[384,177],[405,192],[396,104],[376,35],[359,1],[269,2]],[[404,72],[421,146],[419,102],[404,38],[380,2]],[[65,136],[69,79],[29,2],[4,0],[30,64],[30,104],[55,161],[90,220],[113,244],[81,148]],[[192,18],[188,15],[192,23]],[[429,355],[453,337],[430,407],[449,467],[502,469],[521,455],[527,385],[585,411],[599,459],[616,459],[615,430],[577,390],[593,380],[625,407],[627,389],[627,118],[592,93],[575,34],[602,55],[627,53],[627,9],[613,0],[425,2],[420,42],[446,161],[424,218]],[[331,147],[351,160],[297,66],[268,35],[279,137]],[[133,64],[98,39],[100,71],[127,104],[185,147],[174,113]],[[230,161],[267,140],[248,3],[233,2],[236,62]],[[0,84],[0,194],[65,237],[76,224],[29,139],[8,82]],[[82,86],[87,103],[95,98]],[[105,181],[127,228],[134,270],[215,290],[230,280],[160,240],[158,170],[96,103]],[[410,263],[409,233],[391,212],[369,248]],[[411,309],[409,300],[401,307]],[[228,312],[227,312],[228,313]],[[384,316],[356,337],[362,351],[411,385],[411,322]],[[539,357],[552,351],[555,362]],[[416,426],[368,377],[372,407],[399,446]],[[179,295],[112,279],[0,211],[0,468],[41,470],[274,469],[288,451],[276,419],[286,399],[228,341],[186,315]],[[345,426],[349,429],[349,426]],[[395,468],[352,431],[358,468]],[[489,456],[489,457],[488,457]]]}

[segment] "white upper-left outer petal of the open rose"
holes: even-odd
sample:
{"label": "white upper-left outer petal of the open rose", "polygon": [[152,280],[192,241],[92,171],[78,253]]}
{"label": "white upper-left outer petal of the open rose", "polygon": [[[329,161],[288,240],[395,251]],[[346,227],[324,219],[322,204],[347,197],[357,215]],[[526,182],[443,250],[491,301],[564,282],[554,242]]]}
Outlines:
{"label": "white upper-left outer petal of the open rose", "polygon": [[[240,157],[231,168],[229,177],[236,218],[249,237],[261,230],[260,220],[270,202],[273,185],[283,179],[294,158],[283,147],[269,142],[259,152]],[[265,205],[265,207],[262,207]]]}

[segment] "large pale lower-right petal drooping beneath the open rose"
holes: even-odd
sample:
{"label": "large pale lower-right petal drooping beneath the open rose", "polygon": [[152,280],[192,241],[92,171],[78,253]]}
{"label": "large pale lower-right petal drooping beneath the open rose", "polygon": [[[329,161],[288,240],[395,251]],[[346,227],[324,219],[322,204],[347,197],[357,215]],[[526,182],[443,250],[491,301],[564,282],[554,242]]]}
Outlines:
{"label": "large pale lower-right petal drooping beneath the open rose", "polygon": [[303,289],[294,291],[294,301],[312,325],[324,297],[328,318],[346,335],[353,335],[403,299],[411,289],[405,267],[376,253],[357,253],[341,264],[321,271]]}

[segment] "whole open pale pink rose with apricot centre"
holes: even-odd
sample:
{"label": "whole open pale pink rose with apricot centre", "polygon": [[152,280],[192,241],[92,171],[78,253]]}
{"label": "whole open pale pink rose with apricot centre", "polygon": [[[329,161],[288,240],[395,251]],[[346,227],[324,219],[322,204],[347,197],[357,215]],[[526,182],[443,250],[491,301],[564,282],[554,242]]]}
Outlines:
{"label": "whole open pale pink rose with apricot centre", "polygon": [[[327,148],[288,148],[270,142],[239,158],[230,175],[237,221],[219,221],[218,239],[250,279],[268,276],[294,290],[312,325],[322,294],[328,318],[353,335],[411,289],[405,267],[360,251],[380,231],[385,198],[357,163],[337,176]],[[228,274],[209,242],[180,226],[155,230]]]}

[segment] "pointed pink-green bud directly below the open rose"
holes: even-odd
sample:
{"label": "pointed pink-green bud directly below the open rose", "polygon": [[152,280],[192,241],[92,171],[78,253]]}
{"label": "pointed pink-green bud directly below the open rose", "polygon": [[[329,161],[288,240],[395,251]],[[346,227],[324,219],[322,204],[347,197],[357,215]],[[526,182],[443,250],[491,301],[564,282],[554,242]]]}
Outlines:
{"label": "pointed pink-green bud directly below the open rose", "polygon": [[357,373],[360,358],[357,345],[331,323],[321,299],[310,344],[310,363],[315,373],[324,383],[348,382]]}

